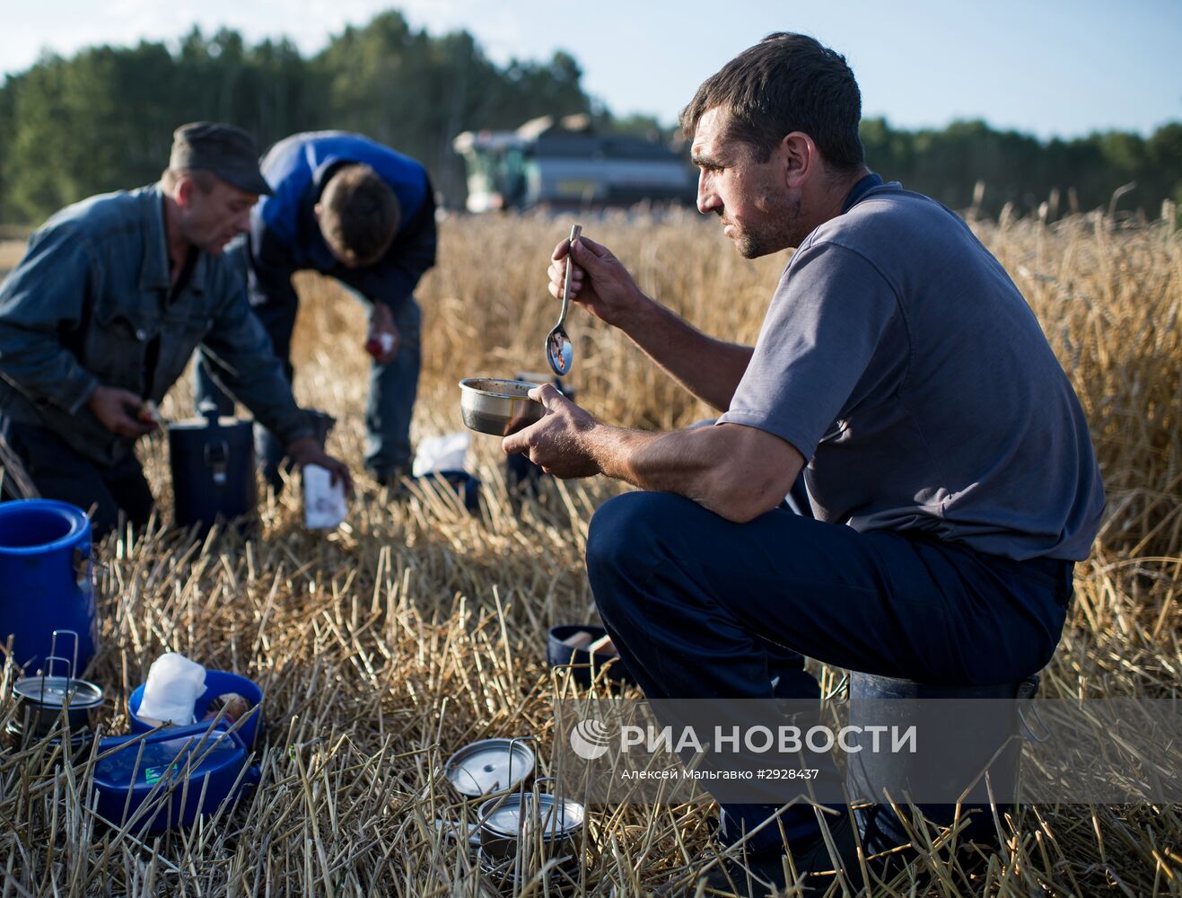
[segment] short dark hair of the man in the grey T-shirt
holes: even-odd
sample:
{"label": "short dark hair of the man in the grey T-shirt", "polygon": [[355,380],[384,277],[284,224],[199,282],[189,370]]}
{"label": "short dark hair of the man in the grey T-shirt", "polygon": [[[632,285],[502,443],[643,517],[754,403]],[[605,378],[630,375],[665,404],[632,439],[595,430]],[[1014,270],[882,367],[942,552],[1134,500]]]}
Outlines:
{"label": "short dark hair of the man in the grey T-shirt", "polygon": [[687,137],[715,106],[729,114],[727,136],[753,147],[760,162],[785,135],[804,131],[838,170],[863,164],[853,72],[844,56],[805,34],[768,34],[707,78],[681,112]]}

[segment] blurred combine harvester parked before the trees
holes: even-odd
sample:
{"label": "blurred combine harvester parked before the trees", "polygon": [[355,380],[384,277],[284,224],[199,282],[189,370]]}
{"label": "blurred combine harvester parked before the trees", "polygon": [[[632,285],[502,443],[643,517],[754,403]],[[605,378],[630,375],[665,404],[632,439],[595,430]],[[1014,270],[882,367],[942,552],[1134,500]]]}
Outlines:
{"label": "blurred combine harvester parked before the trees", "polygon": [[599,136],[586,115],[543,116],[515,131],[465,131],[453,147],[467,169],[469,212],[691,205],[696,195],[687,159],[656,141]]}

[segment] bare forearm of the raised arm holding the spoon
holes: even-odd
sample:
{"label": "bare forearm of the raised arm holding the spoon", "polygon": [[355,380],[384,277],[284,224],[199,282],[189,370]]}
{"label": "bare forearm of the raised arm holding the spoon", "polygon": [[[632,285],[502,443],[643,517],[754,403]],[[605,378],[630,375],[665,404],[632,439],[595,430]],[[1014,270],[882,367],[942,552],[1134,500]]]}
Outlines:
{"label": "bare forearm of the raised arm holding the spoon", "polygon": [[754,351],[702,334],[651,299],[622,329],[686,389],[720,412],[730,406]]}

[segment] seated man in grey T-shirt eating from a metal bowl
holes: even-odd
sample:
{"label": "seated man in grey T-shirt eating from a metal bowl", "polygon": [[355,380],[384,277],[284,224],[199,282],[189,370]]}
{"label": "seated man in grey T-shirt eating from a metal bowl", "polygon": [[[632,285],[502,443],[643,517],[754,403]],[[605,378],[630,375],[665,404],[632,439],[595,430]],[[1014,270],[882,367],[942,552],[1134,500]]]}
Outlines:
{"label": "seated man in grey T-shirt eating from a metal bowl", "polygon": [[[697,207],[748,259],[794,247],[754,347],[709,337],[583,237],[550,291],[621,329],[722,414],[675,432],[612,427],[550,386],[507,437],[563,478],[639,491],[605,503],[587,575],[649,699],[814,699],[804,655],[928,684],[1021,680],[1051,658],[1104,505],[1079,402],[1001,265],[955,214],[863,159],[845,59],[772,34],[682,112]],[[713,302],[729,302],[716,296]],[[784,506],[804,473],[810,515]],[[723,805],[739,839],[775,805]],[[784,883],[849,864],[850,815],[793,805],[746,842]],[[730,878],[730,883],[713,881]],[[746,872],[715,867],[709,885]]]}

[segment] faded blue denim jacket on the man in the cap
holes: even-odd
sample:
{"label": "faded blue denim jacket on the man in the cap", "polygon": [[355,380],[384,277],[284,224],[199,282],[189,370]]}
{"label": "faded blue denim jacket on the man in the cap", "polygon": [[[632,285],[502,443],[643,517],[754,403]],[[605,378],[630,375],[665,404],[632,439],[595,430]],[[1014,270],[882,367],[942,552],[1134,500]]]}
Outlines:
{"label": "faded blue denim jacket on the man in the cap", "polygon": [[200,347],[215,377],[284,445],[310,435],[238,272],[201,253],[188,283],[171,301],[169,292],[158,185],[58,212],[0,284],[0,413],[113,465],[134,440],[86,408],[95,387],[158,402]]}

